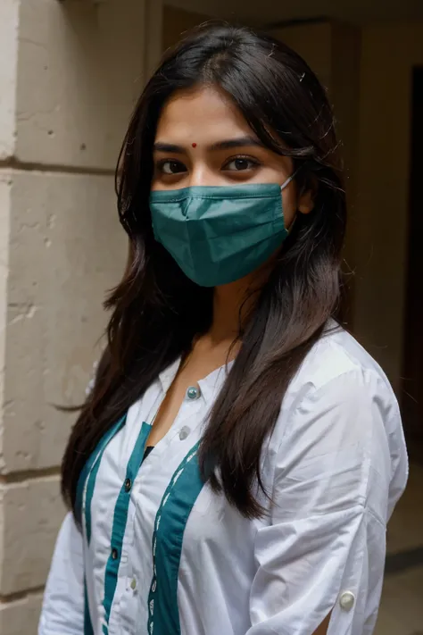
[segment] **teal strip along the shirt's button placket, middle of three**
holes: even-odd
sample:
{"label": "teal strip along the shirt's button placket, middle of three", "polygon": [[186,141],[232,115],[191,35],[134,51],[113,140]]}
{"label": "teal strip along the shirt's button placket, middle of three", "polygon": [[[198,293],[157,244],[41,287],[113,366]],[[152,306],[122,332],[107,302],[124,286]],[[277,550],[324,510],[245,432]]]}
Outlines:
{"label": "teal strip along the shirt's button placket, middle of three", "polygon": [[[108,625],[110,612],[112,608],[112,602],[116,586],[118,583],[118,572],[120,566],[120,558],[122,553],[123,538],[125,535],[128,509],[130,500],[130,490],[132,483],[137,477],[137,473],[144,460],[145,444],[151,431],[151,425],[143,423],[138,435],[137,442],[132,454],[129,458],[129,464],[127,466],[127,472],[125,480],[120,489],[116,506],[114,508],[113,527],[112,527],[112,540],[111,540],[111,555],[106,565],[105,578],[104,578],[104,621]],[[130,483],[129,483],[130,481]],[[128,487],[129,485],[129,487]],[[108,626],[103,626],[104,635],[107,635],[109,629]]]}

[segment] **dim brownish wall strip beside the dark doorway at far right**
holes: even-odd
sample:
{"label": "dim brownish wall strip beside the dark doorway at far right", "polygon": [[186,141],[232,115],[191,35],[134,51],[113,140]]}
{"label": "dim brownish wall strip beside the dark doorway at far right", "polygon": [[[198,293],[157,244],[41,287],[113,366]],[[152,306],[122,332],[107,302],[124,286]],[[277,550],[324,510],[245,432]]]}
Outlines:
{"label": "dim brownish wall strip beside the dark doorway at far right", "polygon": [[423,64],[423,22],[363,29],[355,326],[396,389],[402,373],[411,69],[417,64]]}

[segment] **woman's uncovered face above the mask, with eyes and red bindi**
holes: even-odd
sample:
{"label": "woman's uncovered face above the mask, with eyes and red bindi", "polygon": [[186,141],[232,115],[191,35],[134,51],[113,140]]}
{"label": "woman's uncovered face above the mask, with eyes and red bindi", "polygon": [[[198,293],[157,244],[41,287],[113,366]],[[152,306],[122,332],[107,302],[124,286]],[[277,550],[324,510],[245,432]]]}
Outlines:
{"label": "woman's uncovered face above the mask, with eyes and red bindi", "polygon": [[[293,172],[292,160],[262,146],[242,113],[218,88],[180,91],[170,98],[158,123],[153,163],[155,190],[283,185]],[[312,196],[298,196],[294,181],[282,196],[289,228],[297,211],[311,211]]]}

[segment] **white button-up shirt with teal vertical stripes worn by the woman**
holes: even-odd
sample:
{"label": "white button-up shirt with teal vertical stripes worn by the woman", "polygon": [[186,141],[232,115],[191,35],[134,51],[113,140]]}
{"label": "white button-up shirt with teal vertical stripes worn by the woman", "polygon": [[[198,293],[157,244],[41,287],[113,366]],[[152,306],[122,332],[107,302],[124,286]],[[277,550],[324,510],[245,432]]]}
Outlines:
{"label": "white button-up shirt with teal vertical stripes worn by the woman", "polygon": [[199,382],[137,470],[145,422],[177,368],[97,457],[83,535],[65,518],[39,635],[311,635],[330,612],[328,635],[372,633],[386,522],[407,480],[398,405],[377,363],[340,329],[312,348],[263,450],[273,505],[253,521],[198,478],[195,444],[224,369]]}

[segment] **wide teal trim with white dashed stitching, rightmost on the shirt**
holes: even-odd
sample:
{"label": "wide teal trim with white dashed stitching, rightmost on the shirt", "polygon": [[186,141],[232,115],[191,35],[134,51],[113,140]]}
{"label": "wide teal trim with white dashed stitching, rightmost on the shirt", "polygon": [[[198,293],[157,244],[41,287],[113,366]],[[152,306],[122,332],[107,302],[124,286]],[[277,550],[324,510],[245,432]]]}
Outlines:
{"label": "wide teal trim with white dashed stitching, rightmost on the shirt", "polygon": [[178,572],[189,514],[203,489],[197,443],[173,474],[153,531],[153,581],[148,597],[148,633],[180,635]]}

